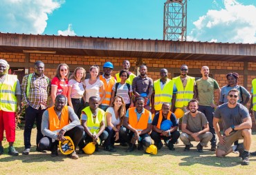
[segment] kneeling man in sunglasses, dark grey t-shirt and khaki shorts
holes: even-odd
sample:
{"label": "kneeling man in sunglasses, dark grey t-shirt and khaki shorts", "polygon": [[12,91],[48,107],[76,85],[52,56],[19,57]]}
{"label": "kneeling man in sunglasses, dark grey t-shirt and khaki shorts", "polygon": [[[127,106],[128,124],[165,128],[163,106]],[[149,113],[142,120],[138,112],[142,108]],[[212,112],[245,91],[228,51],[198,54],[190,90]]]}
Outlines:
{"label": "kneeling man in sunglasses, dark grey t-shirt and khaki shorts", "polygon": [[[213,125],[219,138],[216,150],[217,157],[224,157],[234,150],[238,150],[239,156],[242,158],[241,165],[249,165],[249,150],[252,141],[252,120],[250,114],[244,105],[237,103],[239,99],[239,90],[232,89],[228,92],[228,103],[224,103],[217,107]],[[223,124],[223,135],[219,129],[219,119]],[[244,139],[244,143],[233,145],[238,139]],[[232,146],[232,147],[231,147]]]}

